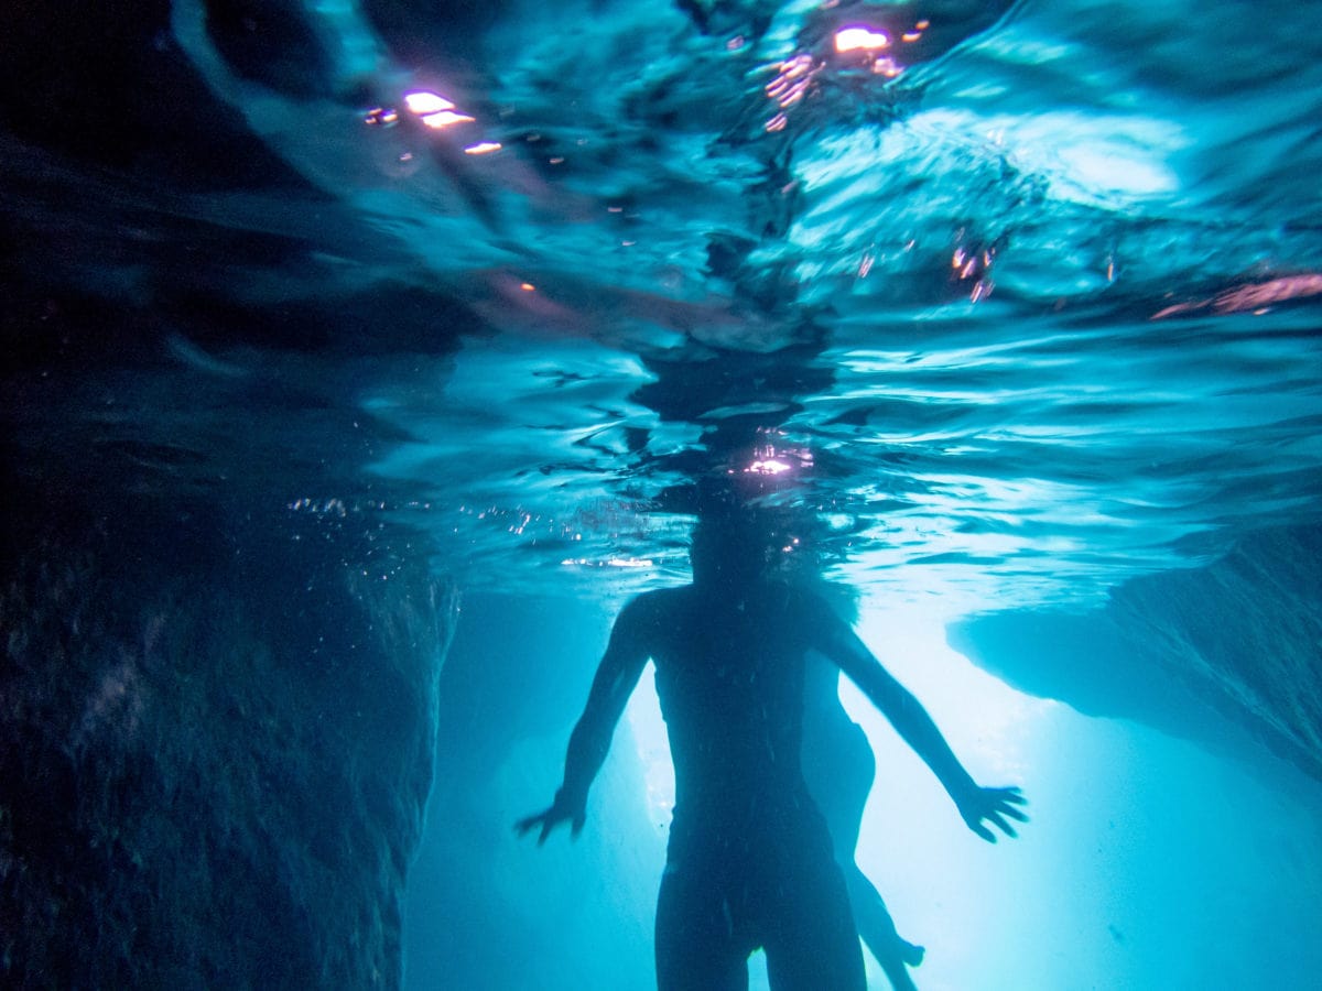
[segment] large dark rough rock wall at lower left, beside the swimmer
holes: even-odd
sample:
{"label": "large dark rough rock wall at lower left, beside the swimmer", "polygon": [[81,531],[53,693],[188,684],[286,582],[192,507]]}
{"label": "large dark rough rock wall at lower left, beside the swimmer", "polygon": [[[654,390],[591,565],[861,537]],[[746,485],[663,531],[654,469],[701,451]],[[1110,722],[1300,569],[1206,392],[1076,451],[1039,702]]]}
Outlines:
{"label": "large dark rough rock wall at lower left, beside the swimmer", "polygon": [[15,521],[0,984],[391,988],[452,591],[276,514]]}

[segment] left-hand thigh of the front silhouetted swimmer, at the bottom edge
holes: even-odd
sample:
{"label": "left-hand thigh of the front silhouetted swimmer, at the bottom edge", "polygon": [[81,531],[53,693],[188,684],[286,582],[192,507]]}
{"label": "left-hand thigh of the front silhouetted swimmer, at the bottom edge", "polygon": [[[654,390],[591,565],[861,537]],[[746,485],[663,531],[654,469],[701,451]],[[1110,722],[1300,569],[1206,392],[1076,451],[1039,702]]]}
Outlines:
{"label": "left-hand thigh of the front silhouetted swimmer, at the bottom edge", "polygon": [[698,871],[666,869],[657,900],[657,991],[748,991],[748,953],[735,938],[722,887]]}

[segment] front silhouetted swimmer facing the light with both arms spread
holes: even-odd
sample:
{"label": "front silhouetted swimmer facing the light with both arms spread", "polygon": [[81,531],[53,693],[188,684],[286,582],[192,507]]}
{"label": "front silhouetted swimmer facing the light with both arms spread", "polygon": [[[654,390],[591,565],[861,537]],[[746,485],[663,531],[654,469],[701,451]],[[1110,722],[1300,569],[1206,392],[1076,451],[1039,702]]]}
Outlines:
{"label": "front silhouetted swimmer facing the light with both arms spread", "polygon": [[[773,991],[863,991],[863,954],[825,819],[801,770],[805,663],[859,686],[927,762],[969,828],[1015,835],[1014,788],[980,788],[919,702],[810,592],[767,577],[773,548],[739,519],[703,522],[693,584],[620,612],[570,737],[554,803],[520,821],[574,835],[615,724],[648,659],[674,761],[676,806],[656,922],[660,991],[744,991],[767,954]],[[855,819],[857,822],[857,819]]]}

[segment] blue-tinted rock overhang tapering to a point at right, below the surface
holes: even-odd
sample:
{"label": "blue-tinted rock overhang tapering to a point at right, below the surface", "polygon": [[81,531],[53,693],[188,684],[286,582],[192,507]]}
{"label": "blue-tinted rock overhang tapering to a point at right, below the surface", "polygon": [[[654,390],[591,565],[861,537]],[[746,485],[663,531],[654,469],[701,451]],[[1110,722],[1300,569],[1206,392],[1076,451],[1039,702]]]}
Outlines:
{"label": "blue-tinted rock overhang tapering to a point at right, below the surface", "polygon": [[1030,694],[1220,749],[1256,741],[1322,778],[1322,527],[1263,530],[1208,567],[1128,581],[1092,613],[993,614],[948,636]]}

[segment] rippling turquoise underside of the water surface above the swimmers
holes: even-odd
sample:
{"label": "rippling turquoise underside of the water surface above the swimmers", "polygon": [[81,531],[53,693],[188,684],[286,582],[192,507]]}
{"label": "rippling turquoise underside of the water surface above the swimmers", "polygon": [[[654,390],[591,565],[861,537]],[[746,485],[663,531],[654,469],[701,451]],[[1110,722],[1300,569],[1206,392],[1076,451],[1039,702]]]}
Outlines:
{"label": "rippling turquoise underside of the water surface above the swimmers", "polygon": [[[1301,8],[719,5],[706,32],[682,5],[576,9],[218,8],[209,33],[180,0],[152,50],[188,87],[59,114],[33,92],[11,118],[74,151],[116,96],[167,144],[120,180],[11,139],[37,283],[16,322],[73,281],[63,351],[95,359],[130,332],[82,311],[137,314],[132,377],[65,386],[61,419],[186,474],[227,468],[213,416],[251,418],[307,462],[296,511],[403,521],[468,580],[547,589],[612,559],[653,562],[612,588],[674,580],[657,499],[759,445],[793,468],[761,488],[847,535],[853,580],[954,613],[1314,518]],[[891,78],[834,54],[858,17],[936,26]],[[473,120],[427,127],[418,92]]]}

